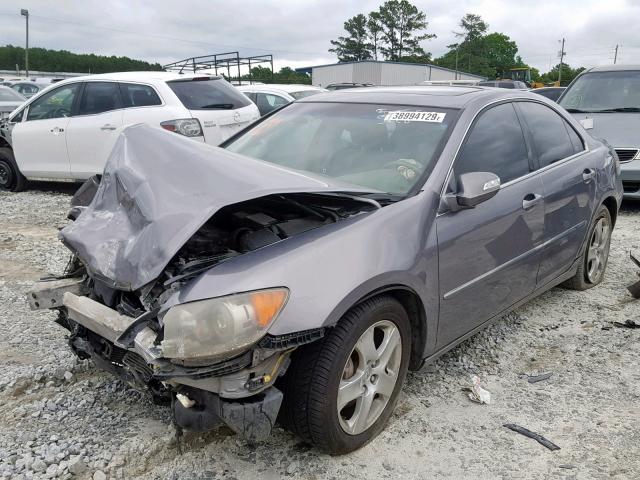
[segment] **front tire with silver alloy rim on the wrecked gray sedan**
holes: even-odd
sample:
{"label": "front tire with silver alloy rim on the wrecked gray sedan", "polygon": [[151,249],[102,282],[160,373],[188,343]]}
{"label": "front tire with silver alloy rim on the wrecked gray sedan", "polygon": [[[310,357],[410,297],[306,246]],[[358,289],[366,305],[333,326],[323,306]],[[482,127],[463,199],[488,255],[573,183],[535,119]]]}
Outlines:
{"label": "front tire with silver alloy rim on the wrecked gray sedan", "polygon": [[380,296],[351,309],[320,341],[295,352],[284,386],[284,422],[319,450],[356,450],[384,428],[407,374],[411,324]]}

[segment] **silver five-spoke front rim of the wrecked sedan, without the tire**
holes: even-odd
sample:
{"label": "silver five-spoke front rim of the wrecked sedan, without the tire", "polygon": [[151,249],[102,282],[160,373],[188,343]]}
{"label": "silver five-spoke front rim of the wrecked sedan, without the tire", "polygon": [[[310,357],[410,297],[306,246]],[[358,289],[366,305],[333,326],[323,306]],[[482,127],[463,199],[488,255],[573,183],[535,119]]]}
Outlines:
{"label": "silver five-spoke front rim of the wrecked sedan, without the tire", "polygon": [[380,417],[398,381],[402,338],[396,325],[382,320],[358,339],[342,372],[337,407],[349,435],[367,430]]}

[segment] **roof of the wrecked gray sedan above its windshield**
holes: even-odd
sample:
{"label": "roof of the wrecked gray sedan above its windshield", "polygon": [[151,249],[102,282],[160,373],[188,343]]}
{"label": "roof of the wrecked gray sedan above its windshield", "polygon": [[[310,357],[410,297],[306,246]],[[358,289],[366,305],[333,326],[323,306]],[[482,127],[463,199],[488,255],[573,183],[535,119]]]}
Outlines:
{"label": "roof of the wrecked gray sedan above its windshield", "polygon": [[533,94],[506,88],[475,86],[367,87],[334,90],[298,100],[297,103],[339,102],[416,105],[441,108],[463,108],[470,102],[487,103],[509,98],[532,98]]}

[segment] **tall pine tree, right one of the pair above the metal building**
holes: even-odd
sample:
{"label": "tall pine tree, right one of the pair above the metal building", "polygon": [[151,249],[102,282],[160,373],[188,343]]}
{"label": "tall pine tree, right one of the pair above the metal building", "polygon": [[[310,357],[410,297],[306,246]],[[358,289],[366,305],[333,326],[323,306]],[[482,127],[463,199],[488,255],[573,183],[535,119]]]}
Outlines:
{"label": "tall pine tree, right one of the pair above the metal building", "polygon": [[424,32],[429,26],[425,12],[407,0],[388,0],[379,9],[384,45],[381,51],[387,60],[428,58],[420,42],[435,38]]}

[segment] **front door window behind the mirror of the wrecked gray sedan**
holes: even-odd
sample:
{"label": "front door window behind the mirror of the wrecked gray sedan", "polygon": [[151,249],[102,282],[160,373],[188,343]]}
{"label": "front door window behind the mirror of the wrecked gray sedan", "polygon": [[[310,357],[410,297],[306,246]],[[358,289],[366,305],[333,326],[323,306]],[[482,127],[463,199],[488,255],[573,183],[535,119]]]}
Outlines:
{"label": "front door window behind the mirror of the wrecked gray sedan", "polygon": [[470,172],[491,172],[503,184],[530,172],[524,134],[511,103],[487,110],[471,127],[454,164],[456,179]]}

